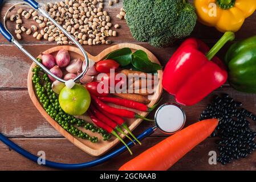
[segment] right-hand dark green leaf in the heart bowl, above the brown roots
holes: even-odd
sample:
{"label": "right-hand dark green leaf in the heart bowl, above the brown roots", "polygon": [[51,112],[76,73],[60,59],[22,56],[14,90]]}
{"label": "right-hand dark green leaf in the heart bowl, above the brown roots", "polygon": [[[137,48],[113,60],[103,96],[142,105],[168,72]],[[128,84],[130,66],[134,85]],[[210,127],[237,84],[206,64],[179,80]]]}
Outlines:
{"label": "right-hand dark green leaf in the heart bowl, above the brown roots", "polygon": [[147,53],[142,50],[138,50],[132,54],[132,65],[146,73],[154,73],[161,69],[161,65],[152,63],[151,60],[148,59]]}

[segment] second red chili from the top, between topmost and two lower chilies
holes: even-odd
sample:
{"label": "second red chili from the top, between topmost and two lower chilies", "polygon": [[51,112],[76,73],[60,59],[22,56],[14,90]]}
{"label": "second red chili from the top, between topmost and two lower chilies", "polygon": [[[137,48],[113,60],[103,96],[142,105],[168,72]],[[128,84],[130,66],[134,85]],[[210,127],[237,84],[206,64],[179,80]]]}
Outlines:
{"label": "second red chili from the top, between topmost and two lower chilies", "polygon": [[133,111],[127,110],[127,109],[117,109],[115,107],[111,107],[104,102],[100,101],[99,98],[95,96],[91,96],[92,99],[94,100],[95,104],[99,106],[101,109],[108,111],[108,113],[119,115],[120,117],[125,117],[125,118],[141,118],[146,121],[153,121],[152,119],[145,118]]}

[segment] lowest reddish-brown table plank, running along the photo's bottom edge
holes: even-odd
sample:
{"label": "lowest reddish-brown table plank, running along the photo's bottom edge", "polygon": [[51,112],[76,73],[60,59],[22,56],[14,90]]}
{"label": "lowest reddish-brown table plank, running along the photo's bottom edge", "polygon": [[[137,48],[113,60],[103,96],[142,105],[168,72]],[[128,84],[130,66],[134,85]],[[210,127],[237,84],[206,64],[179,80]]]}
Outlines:
{"label": "lowest reddish-brown table plank, running along the photo's bottom edge", "polygon": [[[131,156],[126,151],[123,154],[116,156],[112,160],[100,164],[99,166],[83,169],[83,170],[117,170],[124,163],[128,162],[135,156],[141,154],[144,150],[153,145],[157,144],[164,138],[159,137],[148,137],[143,140],[142,146],[132,147],[135,151],[134,155]],[[79,148],[75,147],[73,144],[68,142],[68,140],[63,138],[44,138],[44,139],[11,139],[19,146],[26,148],[29,152],[34,155],[38,154],[38,151],[44,151],[47,160],[54,160],[55,162],[61,163],[81,163],[96,159],[84,153]],[[169,170],[256,170],[256,152],[249,155],[247,158],[242,160],[234,160],[232,164],[227,164],[222,166],[218,163],[217,165],[210,165],[209,151],[216,151],[216,144],[214,143],[216,139],[208,138],[204,142],[198,144],[192,151],[185,155],[181,160],[179,160],[172,168]],[[118,146],[117,146],[118,147]],[[216,151],[217,152],[217,151]],[[0,143],[0,163],[2,170],[52,170],[52,168],[39,166],[27,160],[23,156],[19,155],[17,152],[10,150],[3,143]]]}

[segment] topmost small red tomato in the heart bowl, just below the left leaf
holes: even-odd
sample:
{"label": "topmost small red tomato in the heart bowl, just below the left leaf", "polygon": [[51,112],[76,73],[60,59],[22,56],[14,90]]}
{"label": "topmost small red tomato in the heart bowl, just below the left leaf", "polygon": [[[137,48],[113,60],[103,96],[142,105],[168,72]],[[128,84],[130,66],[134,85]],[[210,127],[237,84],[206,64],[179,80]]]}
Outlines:
{"label": "topmost small red tomato in the heart bowl, just below the left leaf", "polygon": [[119,68],[119,64],[112,59],[102,60],[96,64],[96,71],[100,73],[109,73],[110,69],[116,70],[117,68]]}

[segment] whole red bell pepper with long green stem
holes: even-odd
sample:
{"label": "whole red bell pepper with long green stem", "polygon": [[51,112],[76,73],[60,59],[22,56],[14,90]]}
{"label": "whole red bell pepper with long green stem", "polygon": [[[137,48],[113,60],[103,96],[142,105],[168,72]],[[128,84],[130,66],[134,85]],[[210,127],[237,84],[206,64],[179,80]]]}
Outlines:
{"label": "whole red bell pepper with long green stem", "polygon": [[185,40],[164,69],[164,89],[175,96],[179,104],[194,105],[200,102],[226,82],[225,65],[215,55],[234,38],[233,32],[226,32],[210,51],[201,40]]}

